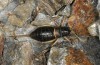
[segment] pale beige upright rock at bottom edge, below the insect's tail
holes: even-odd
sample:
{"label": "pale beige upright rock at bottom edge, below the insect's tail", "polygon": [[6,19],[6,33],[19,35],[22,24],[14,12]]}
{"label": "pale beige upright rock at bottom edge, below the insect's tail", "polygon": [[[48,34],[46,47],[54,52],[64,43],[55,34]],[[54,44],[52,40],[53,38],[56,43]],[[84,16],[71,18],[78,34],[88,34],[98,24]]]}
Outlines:
{"label": "pale beige upright rock at bottom edge, below the insect's tail", "polygon": [[[29,42],[23,42],[18,44],[19,46],[19,54],[16,52],[13,58],[15,58],[12,62],[12,65],[32,65],[32,46]],[[16,58],[17,57],[17,58]]]}

